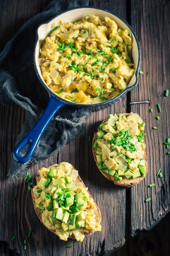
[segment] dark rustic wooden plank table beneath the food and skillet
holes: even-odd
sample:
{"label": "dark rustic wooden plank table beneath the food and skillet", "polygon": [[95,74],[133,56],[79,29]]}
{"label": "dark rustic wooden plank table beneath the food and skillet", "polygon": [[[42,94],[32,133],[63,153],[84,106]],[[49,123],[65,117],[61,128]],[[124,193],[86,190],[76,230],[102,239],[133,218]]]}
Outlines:
{"label": "dark rustic wooden plank table beneath the food and skillet", "polygon": [[[69,1],[63,0],[66,4]],[[0,1],[0,50],[13,37],[22,24],[30,17],[43,11],[48,0],[6,0]],[[30,256],[85,256],[109,254],[121,248],[128,234],[135,236],[138,231],[149,230],[163,218],[170,209],[170,156],[163,145],[170,136],[170,100],[164,97],[164,90],[170,89],[170,1],[128,1],[128,0],[90,0],[90,6],[101,7],[119,14],[135,30],[141,45],[141,70],[144,75],[139,78],[135,90],[126,94],[113,106],[93,112],[88,118],[86,128],[76,141],[67,144],[58,155],[33,166],[29,171],[35,177],[42,166],[67,161],[79,170],[80,176],[95,198],[102,212],[102,232],[96,232],[84,239],[82,243],[68,240],[61,241],[48,231],[35,215],[31,193],[22,181],[23,177],[13,181],[7,178],[11,152],[16,136],[24,123],[25,112],[13,106],[0,108],[0,245],[2,255]],[[131,104],[135,101],[150,101],[150,104]],[[156,104],[160,103],[159,114]],[[149,112],[153,108],[153,112]],[[138,112],[146,122],[146,144],[148,147],[148,175],[130,189],[117,187],[99,173],[92,157],[91,142],[98,125],[109,113]],[[155,117],[159,115],[160,120]],[[157,126],[157,130],[152,130]],[[83,146],[82,146],[83,145]],[[162,168],[163,177],[156,176]],[[156,186],[148,188],[148,184]],[[16,196],[11,202],[11,198]],[[144,202],[146,198],[152,200]],[[10,200],[10,204],[4,201]],[[168,222],[169,223],[169,222]],[[164,225],[166,226],[166,224]],[[31,238],[28,231],[32,229]],[[161,230],[163,233],[163,231]],[[162,234],[161,233],[161,234]],[[11,237],[16,236],[11,241]],[[24,251],[24,238],[27,239],[27,250]],[[128,238],[129,239],[129,238]],[[131,241],[131,240],[130,240]],[[66,249],[67,245],[73,245]],[[132,243],[131,243],[132,245]],[[127,248],[127,245],[126,245]],[[168,247],[169,248],[169,247]],[[127,249],[128,250],[128,249]],[[169,249],[168,249],[169,250]],[[8,252],[7,252],[8,251]],[[118,250],[119,252],[121,250]],[[126,251],[127,252],[127,251]],[[159,250],[158,250],[159,252]],[[152,255],[169,255],[152,254]],[[114,255],[121,255],[114,253]],[[125,251],[124,251],[124,255]],[[129,254],[143,255],[143,254]],[[147,254],[148,255],[148,254]],[[149,254],[151,255],[151,254]]]}

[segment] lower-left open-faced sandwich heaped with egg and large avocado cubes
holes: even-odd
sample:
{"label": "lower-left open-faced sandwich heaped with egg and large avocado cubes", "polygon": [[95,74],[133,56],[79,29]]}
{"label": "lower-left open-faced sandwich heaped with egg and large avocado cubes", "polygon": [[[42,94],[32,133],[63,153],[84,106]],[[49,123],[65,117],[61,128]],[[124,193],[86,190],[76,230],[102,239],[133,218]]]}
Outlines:
{"label": "lower-left open-faced sandwich heaped with egg and large avocado cubes", "polygon": [[101,213],[78,171],[66,162],[41,168],[31,189],[35,212],[41,222],[62,240],[82,242],[101,231]]}

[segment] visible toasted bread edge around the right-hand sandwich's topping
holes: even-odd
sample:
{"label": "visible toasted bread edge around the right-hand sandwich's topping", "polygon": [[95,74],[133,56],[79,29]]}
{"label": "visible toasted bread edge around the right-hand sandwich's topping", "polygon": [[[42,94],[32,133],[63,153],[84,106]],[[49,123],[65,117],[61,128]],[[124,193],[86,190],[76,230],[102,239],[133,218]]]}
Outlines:
{"label": "visible toasted bread edge around the right-hand sandwich's topping", "polygon": [[[130,115],[128,113],[123,113],[123,114],[120,114],[120,115]],[[102,122],[102,124],[104,124],[106,121],[108,120],[108,118],[106,117],[106,119],[104,119],[104,121]],[[100,128],[98,128],[98,131],[100,130]],[[95,132],[94,136],[93,136],[93,144],[95,142],[95,140],[97,139],[97,133]],[[144,139],[144,137],[143,137]],[[144,143],[145,143],[145,139],[144,139]],[[92,144],[92,151],[93,151],[93,157],[95,159],[95,162],[96,162],[96,165],[97,165],[97,168],[99,168],[98,166],[98,162],[97,162],[97,158],[96,158],[96,149],[93,147],[93,144]],[[144,177],[146,176],[147,172],[148,172],[148,163],[147,163],[147,155],[146,155],[146,148],[144,149],[144,159],[145,159],[145,163],[146,163],[146,172],[144,174],[144,176],[140,176],[140,177],[137,177],[135,179],[133,178],[129,178],[127,179],[126,177],[123,177],[122,181],[119,181],[116,179],[116,177],[104,172],[103,170],[99,169],[99,171],[104,175],[104,177],[106,177],[108,180],[111,180],[115,183],[115,185],[119,185],[119,186],[125,186],[125,187],[130,187],[130,186],[133,186],[137,183],[139,183],[141,180],[144,179]]]}

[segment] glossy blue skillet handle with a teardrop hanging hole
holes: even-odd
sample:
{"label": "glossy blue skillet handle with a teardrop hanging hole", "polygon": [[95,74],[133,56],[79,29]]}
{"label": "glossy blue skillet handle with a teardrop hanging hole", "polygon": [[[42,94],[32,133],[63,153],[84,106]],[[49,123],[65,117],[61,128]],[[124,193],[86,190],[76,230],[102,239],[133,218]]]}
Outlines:
{"label": "glossy blue skillet handle with a teardrop hanging hole", "polygon": [[[16,162],[23,164],[32,157],[44,130],[48,126],[57,110],[59,110],[59,108],[62,106],[64,106],[64,104],[61,101],[50,95],[49,103],[37,124],[35,124],[31,131],[18,143],[18,145],[13,150],[12,156]],[[26,155],[20,156],[21,150],[27,144],[29,144],[29,149]]]}

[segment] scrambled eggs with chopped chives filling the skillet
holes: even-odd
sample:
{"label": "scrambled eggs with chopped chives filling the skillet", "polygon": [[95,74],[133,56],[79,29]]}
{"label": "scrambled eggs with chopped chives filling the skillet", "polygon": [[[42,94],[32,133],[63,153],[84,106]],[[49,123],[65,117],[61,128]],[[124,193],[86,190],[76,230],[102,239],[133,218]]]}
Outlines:
{"label": "scrambled eggs with chopped chives filling the skillet", "polygon": [[85,16],[52,24],[40,48],[44,81],[58,96],[75,103],[100,103],[124,90],[135,69],[132,34],[108,17]]}

